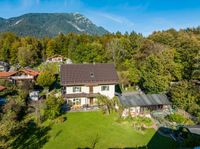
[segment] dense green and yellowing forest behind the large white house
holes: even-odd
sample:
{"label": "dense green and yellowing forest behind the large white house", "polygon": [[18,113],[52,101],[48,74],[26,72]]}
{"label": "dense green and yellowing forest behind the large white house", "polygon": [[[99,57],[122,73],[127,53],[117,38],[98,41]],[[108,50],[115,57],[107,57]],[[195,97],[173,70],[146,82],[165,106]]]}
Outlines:
{"label": "dense green and yellowing forest behind the large white house", "polygon": [[102,36],[59,34],[54,38],[0,35],[0,60],[37,68],[62,55],[73,63],[114,63],[122,89],[138,86],[145,93],[166,93],[175,107],[200,119],[200,27]]}

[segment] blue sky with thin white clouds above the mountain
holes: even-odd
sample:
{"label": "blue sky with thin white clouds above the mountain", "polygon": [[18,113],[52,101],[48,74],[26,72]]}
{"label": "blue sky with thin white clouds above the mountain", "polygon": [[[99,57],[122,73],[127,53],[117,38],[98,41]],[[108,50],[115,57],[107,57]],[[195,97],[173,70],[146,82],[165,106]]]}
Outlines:
{"label": "blue sky with thin white clouds above the mountain", "polygon": [[200,25],[200,0],[0,0],[0,17],[30,12],[79,12],[110,32],[144,35]]}

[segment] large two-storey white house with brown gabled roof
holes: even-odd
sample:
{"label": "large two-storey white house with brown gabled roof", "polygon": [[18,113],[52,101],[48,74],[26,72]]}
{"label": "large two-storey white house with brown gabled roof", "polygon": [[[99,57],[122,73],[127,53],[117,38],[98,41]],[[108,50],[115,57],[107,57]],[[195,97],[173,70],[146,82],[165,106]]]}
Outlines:
{"label": "large two-storey white house with brown gabled roof", "polygon": [[115,96],[118,76],[113,64],[64,64],[61,65],[63,96],[72,105],[94,105],[101,94]]}

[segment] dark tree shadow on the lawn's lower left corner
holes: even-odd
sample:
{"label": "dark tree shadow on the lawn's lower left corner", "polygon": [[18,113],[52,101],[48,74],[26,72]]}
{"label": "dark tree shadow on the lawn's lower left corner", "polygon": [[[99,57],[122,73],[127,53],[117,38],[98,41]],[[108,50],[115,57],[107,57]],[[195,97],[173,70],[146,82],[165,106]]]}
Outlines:
{"label": "dark tree shadow on the lawn's lower left corner", "polygon": [[29,122],[22,128],[12,144],[12,148],[39,149],[49,140],[47,135],[50,127],[38,127],[35,123]]}

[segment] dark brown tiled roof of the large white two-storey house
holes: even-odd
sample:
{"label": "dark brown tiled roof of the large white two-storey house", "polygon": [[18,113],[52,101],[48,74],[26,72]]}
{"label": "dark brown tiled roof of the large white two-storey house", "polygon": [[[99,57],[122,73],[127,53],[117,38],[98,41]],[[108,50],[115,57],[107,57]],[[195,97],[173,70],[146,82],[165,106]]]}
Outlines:
{"label": "dark brown tiled roof of the large white two-storey house", "polygon": [[62,85],[117,84],[118,76],[113,64],[61,65]]}

